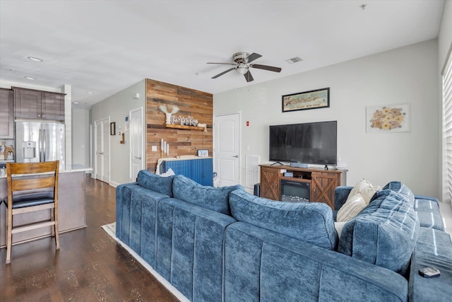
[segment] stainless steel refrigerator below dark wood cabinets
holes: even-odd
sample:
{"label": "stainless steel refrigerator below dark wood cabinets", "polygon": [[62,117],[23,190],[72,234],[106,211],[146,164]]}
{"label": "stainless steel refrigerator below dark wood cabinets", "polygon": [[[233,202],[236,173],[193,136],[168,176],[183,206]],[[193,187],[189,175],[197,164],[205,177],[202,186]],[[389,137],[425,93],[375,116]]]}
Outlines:
{"label": "stainless steel refrigerator below dark wood cabinets", "polygon": [[66,168],[64,124],[56,122],[16,122],[16,162],[38,163],[59,160]]}

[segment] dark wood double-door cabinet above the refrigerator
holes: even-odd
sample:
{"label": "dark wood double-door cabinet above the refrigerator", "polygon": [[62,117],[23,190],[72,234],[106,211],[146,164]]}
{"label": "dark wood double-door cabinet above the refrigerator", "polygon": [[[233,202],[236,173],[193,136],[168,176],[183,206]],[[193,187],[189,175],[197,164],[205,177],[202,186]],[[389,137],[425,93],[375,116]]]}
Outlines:
{"label": "dark wood double-door cabinet above the refrigerator", "polygon": [[64,121],[64,93],[13,87],[16,118]]}

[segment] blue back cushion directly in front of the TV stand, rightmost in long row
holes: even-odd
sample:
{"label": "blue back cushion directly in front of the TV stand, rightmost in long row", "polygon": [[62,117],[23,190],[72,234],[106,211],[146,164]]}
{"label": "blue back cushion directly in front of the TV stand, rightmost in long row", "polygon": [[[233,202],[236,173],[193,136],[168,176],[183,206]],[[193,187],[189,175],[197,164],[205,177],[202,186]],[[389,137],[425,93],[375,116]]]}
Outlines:
{"label": "blue back cushion directly in front of the TV stand, rightmost in long row", "polygon": [[333,213],[321,202],[275,202],[243,190],[230,193],[231,213],[238,221],[333,250],[338,243]]}

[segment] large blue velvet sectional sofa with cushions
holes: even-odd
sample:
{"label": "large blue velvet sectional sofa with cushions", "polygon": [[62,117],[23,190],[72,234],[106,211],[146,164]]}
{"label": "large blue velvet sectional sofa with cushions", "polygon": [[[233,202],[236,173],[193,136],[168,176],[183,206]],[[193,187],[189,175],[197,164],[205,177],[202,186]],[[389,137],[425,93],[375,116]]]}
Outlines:
{"label": "large blue velvet sectional sofa with cushions", "polygon": [[[351,187],[335,191],[336,209]],[[326,204],[274,202],[142,170],[117,187],[117,238],[191,301],[447,301],[452,243],[438,201],[390,182],[345,223]],[[433,266],[441,276],[418,274]]]}

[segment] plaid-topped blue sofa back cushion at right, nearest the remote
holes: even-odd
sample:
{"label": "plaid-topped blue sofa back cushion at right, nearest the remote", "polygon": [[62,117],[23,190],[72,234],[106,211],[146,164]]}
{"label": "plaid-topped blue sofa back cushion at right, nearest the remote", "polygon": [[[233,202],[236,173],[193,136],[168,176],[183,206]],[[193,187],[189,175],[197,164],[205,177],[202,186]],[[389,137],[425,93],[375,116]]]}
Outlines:
{"label": "plaid-topped blue sofa back cushion at right, nearest the remote", "polygon": [[345,224],[338,251],[405,276],[420,227],[417,215],[401,194],[391,190],[376,194]]}

